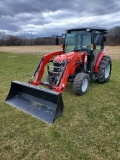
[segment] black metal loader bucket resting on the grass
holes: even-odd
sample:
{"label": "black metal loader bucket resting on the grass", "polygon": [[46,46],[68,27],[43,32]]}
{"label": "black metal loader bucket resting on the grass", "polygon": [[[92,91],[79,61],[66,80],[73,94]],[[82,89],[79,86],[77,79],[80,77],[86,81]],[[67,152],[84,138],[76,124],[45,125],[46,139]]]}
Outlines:
{"label": "black metal loader bucket resting on the grass", "polygon": [[61,93],[18,81],[11,83],[5,102],[50,124],[63,111]]}

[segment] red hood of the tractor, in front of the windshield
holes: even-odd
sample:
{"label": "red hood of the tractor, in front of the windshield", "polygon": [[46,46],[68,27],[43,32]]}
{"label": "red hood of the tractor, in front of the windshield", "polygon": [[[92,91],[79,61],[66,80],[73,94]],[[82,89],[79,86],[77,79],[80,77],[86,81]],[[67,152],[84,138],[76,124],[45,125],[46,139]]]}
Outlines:
{"label": "red hood of the tractor, in front of the windshield", "polygon": [[75,55],[76,55],[76,52],[65,53],[65,54],[56,56],[54,61],[55,62],[62,62],[62,61],[65,61],[65,60],[71,60],[73,58],[73,56],[75,56]]}

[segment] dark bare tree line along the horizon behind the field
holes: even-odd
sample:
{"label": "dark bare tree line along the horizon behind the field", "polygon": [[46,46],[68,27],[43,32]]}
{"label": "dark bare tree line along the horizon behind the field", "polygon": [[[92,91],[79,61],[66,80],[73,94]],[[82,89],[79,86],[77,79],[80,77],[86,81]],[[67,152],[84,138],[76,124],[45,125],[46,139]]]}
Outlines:
{"label": "dark bare tree line along the horizon behind the field", "polygon": [[[25,38],[19,36],[6,35],[5,32],[0,32],[0,46],[32,46],[32,45],[60,45],[64,43],[62,37],[39,37]],[[109,29],[106,38],[106,45],[120,45],[120,26]]]}

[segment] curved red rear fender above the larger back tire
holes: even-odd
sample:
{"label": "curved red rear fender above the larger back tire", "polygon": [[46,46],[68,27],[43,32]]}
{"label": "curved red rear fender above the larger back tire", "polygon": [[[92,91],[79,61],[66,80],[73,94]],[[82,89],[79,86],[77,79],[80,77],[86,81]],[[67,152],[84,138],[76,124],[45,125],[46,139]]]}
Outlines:
{"label": "curved red rear fender above the larger back tire", "polygon": [[99,53],[99,55],[96,57],[96,60],[95,60],[95,65],[94,65],[94,72],[98,72],[99,70],[99,65],[100,65],[100,62],[103,58],[104,55],[106,55],[107,51],[102,51]]}

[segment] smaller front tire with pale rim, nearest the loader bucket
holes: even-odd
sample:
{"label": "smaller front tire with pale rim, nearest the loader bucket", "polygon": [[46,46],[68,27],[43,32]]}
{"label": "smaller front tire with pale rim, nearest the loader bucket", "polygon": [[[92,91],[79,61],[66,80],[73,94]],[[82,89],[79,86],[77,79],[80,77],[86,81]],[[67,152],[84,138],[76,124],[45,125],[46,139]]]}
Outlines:
{"label": "smaller front tire with pale rim, nearest the loader bucket", "polygon": [[78,73],[73,82],[73,93],[82,96],[88,91],[90,78],[86,73]]}

